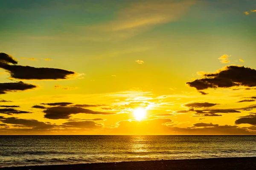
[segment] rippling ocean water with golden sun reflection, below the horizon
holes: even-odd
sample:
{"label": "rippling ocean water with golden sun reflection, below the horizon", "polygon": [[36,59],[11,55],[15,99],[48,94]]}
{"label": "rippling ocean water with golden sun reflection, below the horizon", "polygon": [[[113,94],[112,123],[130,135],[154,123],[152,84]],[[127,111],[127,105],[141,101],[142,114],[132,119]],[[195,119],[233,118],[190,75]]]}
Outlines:
{"label": "rippling ocean water with golden sun reflection, below the horizon", "polygon": [[256,156],[256,136],[0,136],[0,167]]}

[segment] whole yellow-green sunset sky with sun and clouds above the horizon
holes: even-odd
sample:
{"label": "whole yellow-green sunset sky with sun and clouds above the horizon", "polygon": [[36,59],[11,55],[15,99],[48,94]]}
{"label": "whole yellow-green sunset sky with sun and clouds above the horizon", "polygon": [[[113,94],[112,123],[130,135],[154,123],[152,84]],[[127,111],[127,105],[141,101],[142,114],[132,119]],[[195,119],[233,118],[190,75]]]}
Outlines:
{"label": "whole yellow-green sunset sky with sun and clouds above the horizon", "polygon": [[1,135],[255,135],[255,0],[1,0]]}

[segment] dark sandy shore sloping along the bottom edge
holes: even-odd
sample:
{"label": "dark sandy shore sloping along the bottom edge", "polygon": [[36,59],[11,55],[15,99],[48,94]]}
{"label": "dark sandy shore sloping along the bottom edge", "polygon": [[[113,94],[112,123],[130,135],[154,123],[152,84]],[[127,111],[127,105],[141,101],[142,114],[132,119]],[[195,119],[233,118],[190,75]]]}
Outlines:
{"label": "dark sandy shore sloping along the bottom edge", "polygon": [[256,170],[256,157],[6,167],[1,170]]}

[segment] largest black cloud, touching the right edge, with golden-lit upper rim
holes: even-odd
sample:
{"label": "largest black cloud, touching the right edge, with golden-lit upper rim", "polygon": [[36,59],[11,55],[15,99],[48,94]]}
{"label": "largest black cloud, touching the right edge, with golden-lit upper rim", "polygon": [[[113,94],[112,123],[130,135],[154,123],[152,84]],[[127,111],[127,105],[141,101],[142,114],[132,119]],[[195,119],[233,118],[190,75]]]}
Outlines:
{"label": "largest black cloud, touching the right edge, with golden-lit upper rim", "polygon": [[187,82],[190,87],[197,90],[207,88],[230,88],[233,86],[256,86],[256,70],[244,66],[226,66],[213,74],[204,74],[204,78]]}

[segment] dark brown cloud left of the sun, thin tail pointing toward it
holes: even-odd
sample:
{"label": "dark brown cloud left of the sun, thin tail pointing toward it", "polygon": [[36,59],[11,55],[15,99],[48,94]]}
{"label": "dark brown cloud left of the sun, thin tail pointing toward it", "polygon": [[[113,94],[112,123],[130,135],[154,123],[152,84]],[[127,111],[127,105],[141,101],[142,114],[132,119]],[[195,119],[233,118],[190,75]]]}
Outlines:
{"label": "dark brown cloud left of the sun, thin tail pointing toward it", "polygon": [[52,107],[52,108],[47,108],[43,112],[46,113],[44,117],[48,119],[69,119],[71,114],[77,114],[77,113],[102,114],[102,115],[116,114],[111,112],[92,111],[89,109],[78,108],[78,107]]}

